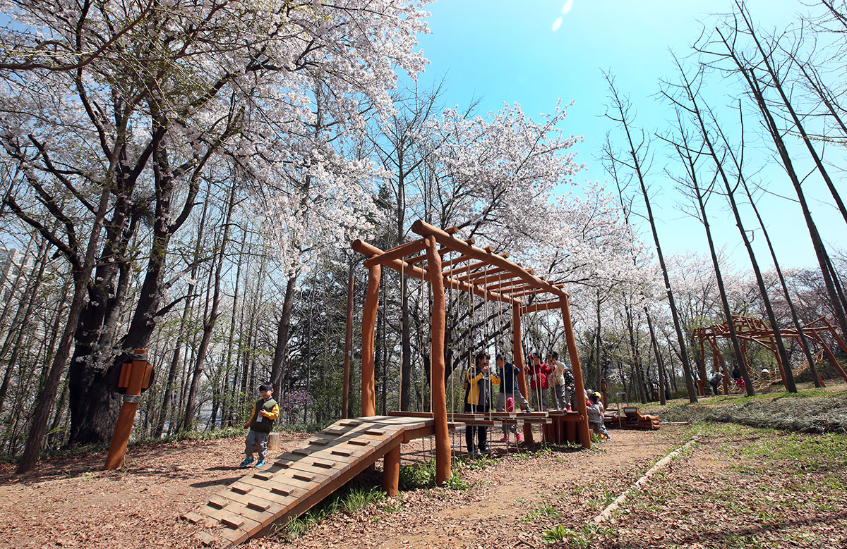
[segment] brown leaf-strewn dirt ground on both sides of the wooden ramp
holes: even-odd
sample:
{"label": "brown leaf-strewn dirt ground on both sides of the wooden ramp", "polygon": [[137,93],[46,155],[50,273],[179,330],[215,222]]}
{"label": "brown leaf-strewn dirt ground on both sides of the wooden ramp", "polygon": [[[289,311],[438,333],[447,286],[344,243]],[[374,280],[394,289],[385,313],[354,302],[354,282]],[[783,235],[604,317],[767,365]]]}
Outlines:
{"label": "brown leaf-strewn dirt ground on both sides of the wooden ramp", "polygon": [[[462,469],[467,490],[401,492],[391,506],[336,513],[295,541],[264,538],[247,546],[540,546],[550,509],[566,508],[568,523],[590,519],[606,499],[591,492],[595,480],[603,479],[609,493],[623,491],[686,437],[678,427],[612,431],[612,441],[589,452],[565,447],[527,453],[514,442],[508,448],[495,442],[495,455],[503,458],[487,469]],[[280,453],[305,438],[283,439]],[[242,443],[234,438],[131,447],[119,471],[100,470],[103,453],[54,458],[22,476],[3,464],[0,547],[196,546],[196,527],[180,515],[241,476],[236,464]],[[407,445],[404,463],[427,457],[431,449],[429,441]]]}

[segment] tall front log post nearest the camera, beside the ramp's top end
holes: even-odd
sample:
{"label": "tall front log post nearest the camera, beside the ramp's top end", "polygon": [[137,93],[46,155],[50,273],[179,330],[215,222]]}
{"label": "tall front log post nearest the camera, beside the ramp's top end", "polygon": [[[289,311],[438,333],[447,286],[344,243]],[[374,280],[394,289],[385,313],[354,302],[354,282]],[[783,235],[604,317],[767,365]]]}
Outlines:
{"label": "tall front log post nearest the camera, beside the ramp's top end", "polygon": [[450,433],[447,431],[447,394],[444,385],[444,338],[446,330],[446,304],[444,278],[441,274],[441,256],[434,236],[426,237],[427,272],[432,294],[432,318],[429,332],[432,337],[429,350],[429,380],[432,391],[432,414],[435,420],[435,483],[443,486],[450,479]]}

